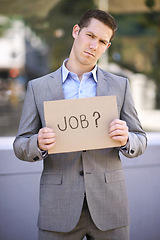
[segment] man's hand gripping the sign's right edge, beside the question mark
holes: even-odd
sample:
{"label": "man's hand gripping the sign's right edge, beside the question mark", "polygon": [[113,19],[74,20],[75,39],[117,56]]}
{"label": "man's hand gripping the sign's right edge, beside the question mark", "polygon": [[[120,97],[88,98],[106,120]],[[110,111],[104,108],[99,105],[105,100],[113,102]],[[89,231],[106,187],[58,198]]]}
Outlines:
{"label": "man's hand gripping the sign's right edge, beside the question mark", "polygon": [[128,127],[125,121],[115,119],[111,122],[109,128],[109,137],[114,141],[119,141],[124,146],[128,140]]}

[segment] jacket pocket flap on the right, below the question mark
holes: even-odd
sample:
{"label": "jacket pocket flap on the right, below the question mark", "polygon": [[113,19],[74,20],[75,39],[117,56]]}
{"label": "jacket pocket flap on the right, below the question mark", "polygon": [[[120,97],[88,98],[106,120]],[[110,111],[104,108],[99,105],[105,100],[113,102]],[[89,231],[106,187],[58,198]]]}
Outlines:
{"label": "jacket pocket flap on the right, below the question mark", "polygon": [[125,181],[125,176],[123,170],[105,172],[105,182],[112,183],[112,182],[119,182]]}

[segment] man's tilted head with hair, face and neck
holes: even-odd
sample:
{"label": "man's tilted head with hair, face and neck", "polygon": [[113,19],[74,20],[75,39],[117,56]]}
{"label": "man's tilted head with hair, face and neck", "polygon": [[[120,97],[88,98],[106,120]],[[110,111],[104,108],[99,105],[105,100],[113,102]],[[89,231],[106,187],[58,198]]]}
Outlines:
{"label": "man's tilted head with hair, face and neck", "polygon": [[67,67],[81,73],[91,71],[99,58],[110,47],[116,32],[114,18],[101,10],[89,10],[73,27],[73,46]]}

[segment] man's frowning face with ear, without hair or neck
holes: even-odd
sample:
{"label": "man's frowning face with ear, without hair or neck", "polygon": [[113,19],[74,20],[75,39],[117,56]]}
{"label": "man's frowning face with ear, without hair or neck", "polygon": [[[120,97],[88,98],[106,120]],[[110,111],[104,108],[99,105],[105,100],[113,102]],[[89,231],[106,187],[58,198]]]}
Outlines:
{"label": "man's frowning face with ear, without hair or neck", "polygon": [[73,28],[74,61],[83,65],[88,65],[92,69],[97,60],[110,46],[109,40],[112,30],[101,21],[92,18],[89,25],[80,30],[78,25]]}

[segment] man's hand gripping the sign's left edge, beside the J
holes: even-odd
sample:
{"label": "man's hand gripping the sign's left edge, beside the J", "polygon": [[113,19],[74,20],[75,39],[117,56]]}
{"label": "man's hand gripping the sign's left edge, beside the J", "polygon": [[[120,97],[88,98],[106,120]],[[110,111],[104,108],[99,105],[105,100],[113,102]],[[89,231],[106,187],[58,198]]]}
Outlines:
{"label": "man's hand gripping the sign's left edge, beside the J", "polygon": [[52,128],[44,127],[38,132],[38,147],[43,151],[53,148],[56,143],[56,135]]}

